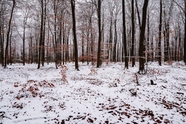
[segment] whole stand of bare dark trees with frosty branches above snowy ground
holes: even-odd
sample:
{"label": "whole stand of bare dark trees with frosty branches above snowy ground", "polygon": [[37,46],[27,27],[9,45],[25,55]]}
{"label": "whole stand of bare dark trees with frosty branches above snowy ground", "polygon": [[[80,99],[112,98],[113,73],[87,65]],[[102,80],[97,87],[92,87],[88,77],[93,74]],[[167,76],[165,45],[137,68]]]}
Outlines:
{"label": "whole stand of bare dark trees with frosty branches above snowy ground", "polygon": [[186,63],[185,0],[1,0],[0,63]]}

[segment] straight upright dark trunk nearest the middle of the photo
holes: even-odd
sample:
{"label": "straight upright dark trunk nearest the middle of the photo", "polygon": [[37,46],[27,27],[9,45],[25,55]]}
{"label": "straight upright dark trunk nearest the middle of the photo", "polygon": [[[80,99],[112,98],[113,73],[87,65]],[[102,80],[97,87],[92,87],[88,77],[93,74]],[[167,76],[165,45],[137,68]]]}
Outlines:
{"label": "straight upright dark trunk nearest the middle of the photo", "polygon": [[97,14],[98,14],[98,53],[97,53],[97,68],[101,65],[101,0],[98,0],[98,8],[97,8]]}

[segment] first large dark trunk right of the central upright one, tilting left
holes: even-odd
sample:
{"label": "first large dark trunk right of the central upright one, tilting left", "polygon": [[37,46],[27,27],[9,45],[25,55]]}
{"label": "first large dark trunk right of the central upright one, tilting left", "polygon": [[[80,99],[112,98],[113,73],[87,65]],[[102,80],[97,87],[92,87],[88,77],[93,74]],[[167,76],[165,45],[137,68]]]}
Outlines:
{"label": "first large dark trunk right of the central upright one, tilting left", "polygon": [[123,49],[125,54],[125,68],[128,69],[127,38],[125,24],[125,0],[122,0],[122,11],[123,11]]}

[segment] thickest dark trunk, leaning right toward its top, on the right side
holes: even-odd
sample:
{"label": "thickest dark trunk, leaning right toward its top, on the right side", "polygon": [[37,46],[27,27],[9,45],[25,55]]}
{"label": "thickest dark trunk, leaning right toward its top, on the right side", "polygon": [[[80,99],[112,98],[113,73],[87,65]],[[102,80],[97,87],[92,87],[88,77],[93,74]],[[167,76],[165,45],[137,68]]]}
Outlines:
{"label": "thickest dark trunk, leaning right toward its top, on the right side", "polygon": [[145,27],[146,27],[146,15],[147,15],[147,7],[148,7],[148,1],[145,0],[143,4],[143,14],[142,14],[142,26],[140,30],[140,42],[139,42],[139,73],[143,73],[144,68],[144,39],[145,39]]}

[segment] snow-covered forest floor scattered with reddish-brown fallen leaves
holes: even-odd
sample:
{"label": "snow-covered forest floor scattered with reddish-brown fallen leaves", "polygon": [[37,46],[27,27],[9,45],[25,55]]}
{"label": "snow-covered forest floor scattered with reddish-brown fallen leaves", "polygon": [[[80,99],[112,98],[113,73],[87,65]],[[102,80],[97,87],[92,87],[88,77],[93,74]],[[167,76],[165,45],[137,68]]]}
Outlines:
{"label": "snow-covered forest floor scattered with reddish-brown fallen leaves", "polygon": [[[0,123],[186,123],[186,66],[148,65],[146,75],[123,63],[0,67]],[[68,70],[65,70],[68,69]],[[62,71],[61,71],[62,70]],[[156,85],[151,85],[153,80]]]}

